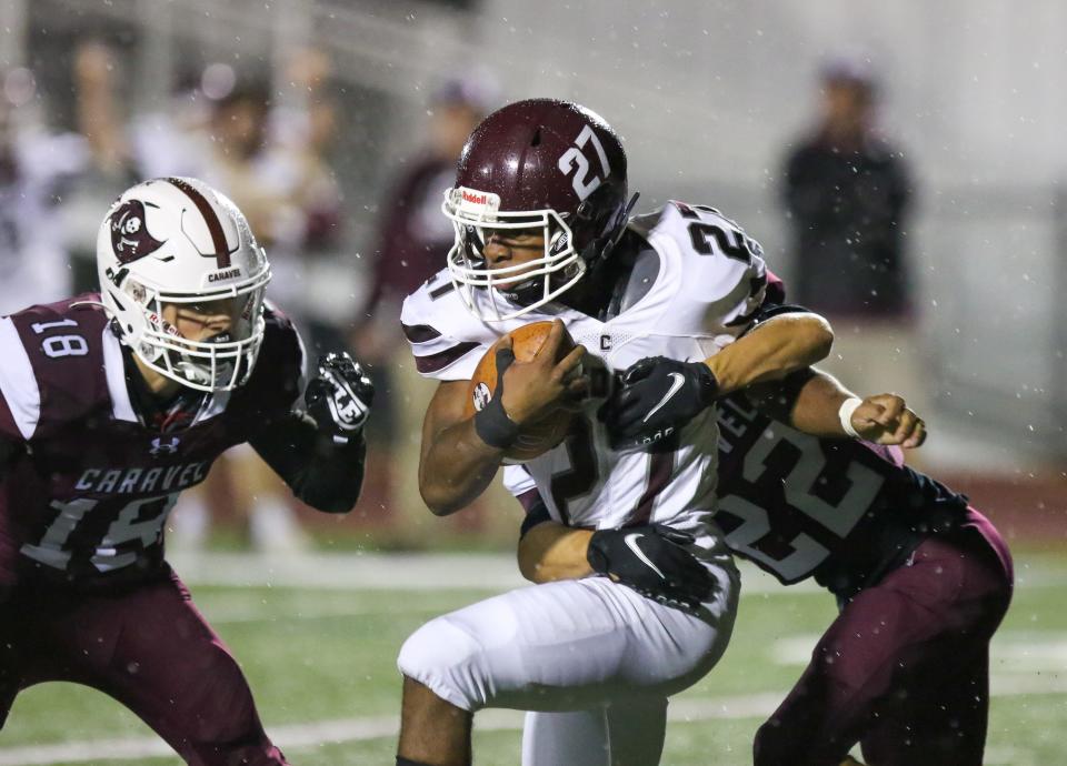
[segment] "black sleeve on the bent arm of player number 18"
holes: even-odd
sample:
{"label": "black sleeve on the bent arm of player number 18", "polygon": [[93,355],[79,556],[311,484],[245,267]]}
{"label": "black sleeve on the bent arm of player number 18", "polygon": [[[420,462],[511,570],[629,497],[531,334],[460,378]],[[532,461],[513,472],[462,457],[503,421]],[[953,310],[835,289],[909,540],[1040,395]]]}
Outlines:
{"label": "black sleeve on the bent arm of player number 18", "polygon": [[300,501],[317,511],[348,513],[363,484],[362,434],[337,444],[307,414],[293,411],[248,440]]}

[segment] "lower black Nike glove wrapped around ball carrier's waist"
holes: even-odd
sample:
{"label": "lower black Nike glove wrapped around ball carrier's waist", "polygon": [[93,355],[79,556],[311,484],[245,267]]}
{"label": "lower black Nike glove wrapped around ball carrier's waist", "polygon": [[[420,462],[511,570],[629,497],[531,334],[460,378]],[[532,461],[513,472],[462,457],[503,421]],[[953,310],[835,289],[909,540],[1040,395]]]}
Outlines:
{"label": "lower black Nike glove wrapped around ball carrier's waist", "polygon": [[595,572],[661,604],[696,609],[710,598],[715,579],[684,546],[692,535],[664,524],[598,530],[586,560]]}

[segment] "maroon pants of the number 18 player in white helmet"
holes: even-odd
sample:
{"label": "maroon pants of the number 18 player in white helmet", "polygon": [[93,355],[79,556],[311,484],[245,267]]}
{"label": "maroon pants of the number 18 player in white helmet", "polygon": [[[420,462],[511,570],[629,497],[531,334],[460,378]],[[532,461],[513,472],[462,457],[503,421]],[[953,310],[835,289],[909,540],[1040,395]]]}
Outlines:
{"label": "maroon pants of the number 18 player in white helmet", "polygon": [[173,573],[114,594],[20,589],[0,607],[0,725],[21,689],[68,681],[114,697],[189,764],[286,764]]}

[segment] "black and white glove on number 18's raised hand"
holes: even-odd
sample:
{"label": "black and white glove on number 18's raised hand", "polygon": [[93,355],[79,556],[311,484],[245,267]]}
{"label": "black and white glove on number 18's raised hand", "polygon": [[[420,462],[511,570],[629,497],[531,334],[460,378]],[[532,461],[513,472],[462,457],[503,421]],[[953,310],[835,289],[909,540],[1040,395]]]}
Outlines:
{"label": "black and white glove on number 18's raised hand", "polygon": [[308,414],[338,443],[359,435],[373,399],[375,384],[347,353],[320,356],[319,372],[303,391]]}

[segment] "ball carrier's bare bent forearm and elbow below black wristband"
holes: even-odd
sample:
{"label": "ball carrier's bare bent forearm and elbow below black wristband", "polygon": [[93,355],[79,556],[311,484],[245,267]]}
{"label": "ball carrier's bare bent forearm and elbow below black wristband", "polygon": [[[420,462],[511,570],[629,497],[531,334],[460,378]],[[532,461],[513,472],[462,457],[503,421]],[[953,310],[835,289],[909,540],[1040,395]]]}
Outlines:
{"label": "ball carrier's bare bent forearm and elbow below black wristband", "polygon": [[450,425],[433,437],[419,462],[422,500],[437,516],[470,505],[489,486],[502,456],[502,450],[481,441],[473,419]]}

